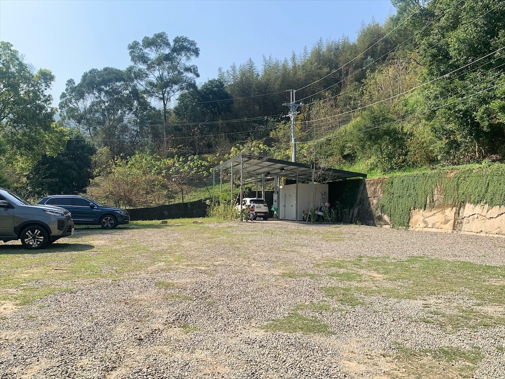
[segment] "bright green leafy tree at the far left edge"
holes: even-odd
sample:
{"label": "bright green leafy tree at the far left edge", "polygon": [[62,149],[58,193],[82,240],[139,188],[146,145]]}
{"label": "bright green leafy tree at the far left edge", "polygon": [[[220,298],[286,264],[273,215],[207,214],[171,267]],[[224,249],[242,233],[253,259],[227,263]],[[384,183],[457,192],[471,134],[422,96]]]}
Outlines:
{"label": "bright green leafy tree at the far left edge", "polygon": [[46,93],[54,79],[46,69],[34,73],[11,43],[0,41],[0,139],[6,163],[18,172],[65,147],[66,131],[54,122]]}

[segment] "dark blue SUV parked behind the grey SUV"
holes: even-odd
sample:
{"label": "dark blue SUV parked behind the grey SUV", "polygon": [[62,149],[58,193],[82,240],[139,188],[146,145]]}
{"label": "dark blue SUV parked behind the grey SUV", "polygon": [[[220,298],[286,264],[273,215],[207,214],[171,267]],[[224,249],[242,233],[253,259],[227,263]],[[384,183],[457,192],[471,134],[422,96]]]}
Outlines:
{"label": "dark blue SUV parked behind the grey SUV", "polygon": [[105,207],[93,199],[78,195],[51,195],[42,198],[37,204],[56,205],[72,213],[76,225],[100,225],[113,229],[130,222],[130,215],[120,208]]}

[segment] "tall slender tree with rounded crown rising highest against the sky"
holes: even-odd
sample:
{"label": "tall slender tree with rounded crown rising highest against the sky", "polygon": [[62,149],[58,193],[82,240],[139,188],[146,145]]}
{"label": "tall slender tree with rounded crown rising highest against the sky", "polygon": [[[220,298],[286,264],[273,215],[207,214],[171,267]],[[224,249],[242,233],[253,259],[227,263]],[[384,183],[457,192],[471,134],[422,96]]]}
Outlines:
{"label": "tall slender tree with rounded crown rising highest against the sky", "polygon": [[176,93],[195,87],[198,69],[191,65],[198,58],[200,49],[196,42],[177,36],[170,42],[165,32],[153,37],[144,37],[142,42],[133,41],[128,45],[133,66],[128,68],[131,77],[140,85],[149,99],[162,104],[163,112],[163,156],[168,149],[169,105]]}

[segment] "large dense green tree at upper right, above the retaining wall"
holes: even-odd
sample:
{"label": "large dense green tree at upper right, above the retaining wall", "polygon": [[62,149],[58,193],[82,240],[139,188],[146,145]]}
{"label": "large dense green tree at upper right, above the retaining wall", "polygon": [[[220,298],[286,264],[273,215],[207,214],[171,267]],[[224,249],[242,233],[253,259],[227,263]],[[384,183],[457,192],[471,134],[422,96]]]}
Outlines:
{"label": "large dense green tree at upper right, above the retaining wall", "polygon": [[505,155],[505,7],[500,0],[440,0],[428,11],[437,22],[420,36],[427,119],[439,159],[468,163]]}

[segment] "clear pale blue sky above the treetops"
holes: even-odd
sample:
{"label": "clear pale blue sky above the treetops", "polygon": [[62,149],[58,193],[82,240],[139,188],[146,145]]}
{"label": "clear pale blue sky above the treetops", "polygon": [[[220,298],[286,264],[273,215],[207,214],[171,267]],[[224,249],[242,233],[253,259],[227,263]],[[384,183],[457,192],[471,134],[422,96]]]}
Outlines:
{"label": "clear pale blue sky above the treetops", "polygon": [[[361,23],[383,23],[389,0],[352,1],[107,1],[0,0],[0,40],[11,42],[36,69],[51,70],[55,105],[65,82],[92,68],[125,69],[127,45],[165,31],[200,48],[197,83],[249,58],[283,60],[319,40],[354,40]],[[287,88],[286,88],[287,89]]]}

